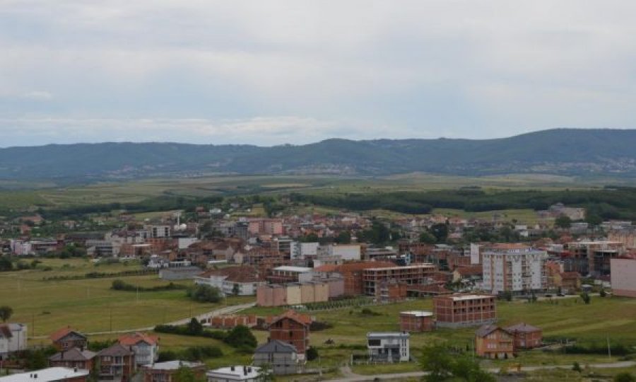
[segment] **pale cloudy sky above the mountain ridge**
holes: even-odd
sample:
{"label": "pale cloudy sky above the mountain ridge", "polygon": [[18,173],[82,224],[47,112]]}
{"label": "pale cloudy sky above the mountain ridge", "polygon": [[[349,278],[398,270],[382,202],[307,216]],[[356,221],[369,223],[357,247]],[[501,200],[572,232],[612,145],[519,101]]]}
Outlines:
{"label": "pale cloudy sky above the mountain ridge", "polygon": [[632,128],[636,1],[0,0],[0,146]]}

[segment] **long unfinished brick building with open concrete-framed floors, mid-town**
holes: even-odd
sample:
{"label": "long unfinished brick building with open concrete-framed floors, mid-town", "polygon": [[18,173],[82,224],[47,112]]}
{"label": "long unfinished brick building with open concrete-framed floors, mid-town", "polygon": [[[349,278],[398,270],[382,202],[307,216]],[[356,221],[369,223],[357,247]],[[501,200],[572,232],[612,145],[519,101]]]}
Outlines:
{"label": "long unfinished brick building with open concrete-framed floors, mid-town", "polygon": [[367,268],[363,270],[364,294],[377,296],[377,288],[388,281],[406,285],[430,284],[434,272],[435,265],[432,264]]}

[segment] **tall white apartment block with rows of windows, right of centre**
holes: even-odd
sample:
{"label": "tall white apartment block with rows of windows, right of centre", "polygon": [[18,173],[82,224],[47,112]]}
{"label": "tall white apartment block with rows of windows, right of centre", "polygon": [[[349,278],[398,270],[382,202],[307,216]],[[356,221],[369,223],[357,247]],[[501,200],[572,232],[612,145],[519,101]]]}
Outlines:
{"label": "tall white apartment block with rows of windows, right of centre", "polygon": [[524,293],[548,288],[548,253],[523,244],[500,243],[483,251],[483,289]]}

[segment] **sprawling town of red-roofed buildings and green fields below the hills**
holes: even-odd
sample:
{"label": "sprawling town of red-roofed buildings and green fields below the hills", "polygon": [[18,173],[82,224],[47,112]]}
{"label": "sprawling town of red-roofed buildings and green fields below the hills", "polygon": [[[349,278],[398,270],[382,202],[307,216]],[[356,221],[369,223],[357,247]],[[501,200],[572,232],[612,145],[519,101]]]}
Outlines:
{"label": "sprawling town of red-roofed buildings and green fields below the hills", "polygon": [[408,379],[436,347],[493,376],[636,365],[631,221],[276,202],[5,221],[0,381]]}

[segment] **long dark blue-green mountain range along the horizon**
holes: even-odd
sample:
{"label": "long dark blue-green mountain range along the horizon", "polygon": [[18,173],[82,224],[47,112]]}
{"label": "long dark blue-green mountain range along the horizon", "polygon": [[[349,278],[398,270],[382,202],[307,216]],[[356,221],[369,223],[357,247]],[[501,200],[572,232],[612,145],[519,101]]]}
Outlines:
{"label": "long dark blue-green mountain range along the horizon", "polygon": [[636,175],[636,129],[550,129],[501,139],[326,139],[253,146],[49,144],[0,149],[0,179],[108,180],[232,174]]}

